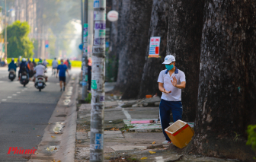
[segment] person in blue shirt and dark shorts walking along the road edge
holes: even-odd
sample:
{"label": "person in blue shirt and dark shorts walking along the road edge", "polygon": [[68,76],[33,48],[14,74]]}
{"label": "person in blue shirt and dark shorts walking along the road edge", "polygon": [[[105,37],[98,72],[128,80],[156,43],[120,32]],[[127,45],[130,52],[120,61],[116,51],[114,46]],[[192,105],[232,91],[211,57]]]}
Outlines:
{"label": "person in blue shirt and dark shorts walking along the road edge", "polygon": [[58,73],[59,73],[59,86],[60,86],[60,91],[62,91],[62,82],[64,84],[63,86],[63,91],[65,91],[66,87],[66,72],[69,75],[68,67],[64,65],[63,59],[60,60],[60,65],[57,67],[57,75],[56,78],[58,78]]}

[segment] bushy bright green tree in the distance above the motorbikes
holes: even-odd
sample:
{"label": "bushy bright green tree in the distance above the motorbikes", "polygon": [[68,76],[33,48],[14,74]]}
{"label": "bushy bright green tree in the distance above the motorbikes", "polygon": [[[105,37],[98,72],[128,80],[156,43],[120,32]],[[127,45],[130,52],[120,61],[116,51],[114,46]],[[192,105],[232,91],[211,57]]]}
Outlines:
{"label": "bushy bright green tree in the distance above the motorbikes", "polygon": [[[33,43],[28,37],[30,26],[27,22],[15,21],[14,24],[7,27],[7,51],[8,57],[26,57],[30,58],[34,55]],[[5,36],[5,30],[2,35]]]}

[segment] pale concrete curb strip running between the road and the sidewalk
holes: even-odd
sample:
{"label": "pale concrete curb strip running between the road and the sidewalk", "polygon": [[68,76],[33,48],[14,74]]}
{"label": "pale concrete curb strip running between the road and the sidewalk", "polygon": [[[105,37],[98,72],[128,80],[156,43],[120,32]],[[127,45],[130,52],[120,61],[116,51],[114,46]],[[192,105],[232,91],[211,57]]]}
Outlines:
{"label": "pale concrete curb strip running between the road and the sidewalk", "polygon": [[[61,160],[71,162],[75,160],[75,132],[76,132],[76,99],[78,97],[78,75],[72,75],[66,85],[44,129],[43,138],[37,148],[35,157],[30,162]],[[50,149],[49,149],[50,148]],[[53,149],[54,148],[54,149]],[[52,150],[51,150],[52,149]]]}

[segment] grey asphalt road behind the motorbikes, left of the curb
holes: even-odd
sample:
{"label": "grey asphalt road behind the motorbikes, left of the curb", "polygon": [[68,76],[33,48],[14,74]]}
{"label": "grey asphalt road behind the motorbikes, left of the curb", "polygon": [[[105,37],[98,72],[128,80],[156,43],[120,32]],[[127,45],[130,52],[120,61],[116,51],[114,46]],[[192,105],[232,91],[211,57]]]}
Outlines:
{"label": "grey asphalt road behind the motorbikes, left of the curb", "polygon": [[[79,70],[74,68],[70,73],[77,74]],[[23,154],[7,154],[8,149],[32,149],[40,143],[62,94],[51,70],[46,75],[50,77],[49,82],[39,92],[32,81],[26,87],[17,78],[9,81],[7,68],[0,68],[0,161],[27,161]]]}

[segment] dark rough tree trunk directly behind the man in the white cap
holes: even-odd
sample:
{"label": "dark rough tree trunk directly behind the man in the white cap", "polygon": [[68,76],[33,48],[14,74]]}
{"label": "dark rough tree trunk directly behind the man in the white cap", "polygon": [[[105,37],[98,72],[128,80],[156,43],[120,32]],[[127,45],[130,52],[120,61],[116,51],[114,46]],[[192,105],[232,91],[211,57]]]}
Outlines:
{"label": "dark rough tree trunk directly behind the man in the white cap", "polygon": [[203,0],[171,0],[168,23],[167,54],[175,56],[176,67],[186,75],[186,88],[181,94],[182,118],[193,122],[197,110]]}

